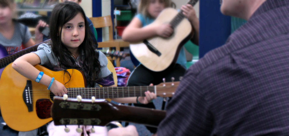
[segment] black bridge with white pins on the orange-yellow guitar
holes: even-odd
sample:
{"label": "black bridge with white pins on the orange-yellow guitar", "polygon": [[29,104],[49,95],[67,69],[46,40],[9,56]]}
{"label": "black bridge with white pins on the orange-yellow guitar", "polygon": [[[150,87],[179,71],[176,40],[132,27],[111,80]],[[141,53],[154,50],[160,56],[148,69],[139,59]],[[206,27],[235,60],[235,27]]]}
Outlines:
{"label": "black bridge with white pins on the orange-yellow guitar", "polygon": [[28,112],[32,112],[33,111],[33,98],[32,98],[32,82],[31,80],[27,80],[26,82],[26,86],[23,90],[23,101],[26,104],[27,108],[28,108]]}

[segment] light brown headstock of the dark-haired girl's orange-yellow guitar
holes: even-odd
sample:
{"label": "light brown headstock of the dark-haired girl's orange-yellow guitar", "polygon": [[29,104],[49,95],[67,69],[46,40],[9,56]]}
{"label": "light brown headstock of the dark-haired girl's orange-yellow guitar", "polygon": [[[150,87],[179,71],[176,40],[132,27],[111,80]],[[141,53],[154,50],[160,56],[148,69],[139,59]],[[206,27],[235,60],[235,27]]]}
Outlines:
{"label": "light brown headstock of the dark-haired girl's orange-yellow guitar", "polygon": [[172,97],[175,94],[176,88],[179,86],[178,82],[163,82],[156,85],[157,96]]}

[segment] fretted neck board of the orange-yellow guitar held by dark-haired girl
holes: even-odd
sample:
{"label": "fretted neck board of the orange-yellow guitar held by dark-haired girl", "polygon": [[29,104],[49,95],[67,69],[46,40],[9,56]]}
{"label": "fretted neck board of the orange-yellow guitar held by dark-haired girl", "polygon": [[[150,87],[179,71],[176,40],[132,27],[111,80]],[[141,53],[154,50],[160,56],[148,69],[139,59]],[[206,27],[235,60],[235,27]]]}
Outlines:
{"label": "fretted neck board of the orange-yellow guitar held by dark-haired girl", "polygon": [[145,96],[146,91],[155,91],[155,86],[130,86],[130,87],[101,87],[101,88],[67,88],[69,98],[76,98],[78,95],[83,99],[123,98]]}

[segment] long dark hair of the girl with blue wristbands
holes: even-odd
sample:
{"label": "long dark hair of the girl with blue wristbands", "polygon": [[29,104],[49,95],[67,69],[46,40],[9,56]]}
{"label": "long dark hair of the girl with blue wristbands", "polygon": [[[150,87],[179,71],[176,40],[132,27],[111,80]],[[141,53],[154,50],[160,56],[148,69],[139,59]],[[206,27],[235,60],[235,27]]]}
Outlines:
{"label": "long dark hair of the girl with blue wristbands", "polygon": [[[75,64],[76,62],[72,57],[73,54],[61,42],[63,25],[73,19],[78,13],[82,14],[85,22],[84,41],[78,47],[79,58],[83,61],[83,66],[81,66],[81,68]],[[85,79],[88,80],[89,83],[94,83],[97,79],[98,73],[100,72],[101,66],[98,60],[99,54],[93,47],[95,43],[92,40],[91,30],[83,9],[74,2],[59,3],[51,12],[49,26],[50,38],[52,41],[51,49],[59,66],[65,71],[66,69],[80,69],[84,72]],[[68,72],[66,71],[66,73]]]}

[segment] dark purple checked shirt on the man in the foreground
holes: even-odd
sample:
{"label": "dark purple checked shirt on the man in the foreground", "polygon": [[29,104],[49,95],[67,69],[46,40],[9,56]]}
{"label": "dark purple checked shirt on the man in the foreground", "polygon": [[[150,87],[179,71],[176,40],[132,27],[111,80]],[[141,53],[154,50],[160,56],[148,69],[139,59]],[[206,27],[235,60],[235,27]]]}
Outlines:
{"label": "dark purple checked shirt on the man in the foreground", "polygon": [[289,135],[289,1],[267,0],[192,65],[158,136]]}

